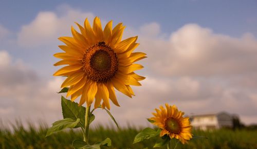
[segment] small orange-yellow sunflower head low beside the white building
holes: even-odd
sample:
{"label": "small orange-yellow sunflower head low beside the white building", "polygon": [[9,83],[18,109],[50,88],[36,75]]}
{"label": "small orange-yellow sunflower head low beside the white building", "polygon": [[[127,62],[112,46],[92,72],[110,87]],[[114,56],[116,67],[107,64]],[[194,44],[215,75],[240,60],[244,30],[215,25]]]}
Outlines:
{"label": "small orange-yellow sunflower head low beside the white building", "polygon": [[183,144],[192,139],[192,126],[190,125],[189,117],[182,117],[183,112],[179,111],[175,105],[171,106],[165,104],[166,108],[160,106],[159,109],[155,109],[153,124],[161,128],[160,136],[168,135],[171,139],[176,138]]}

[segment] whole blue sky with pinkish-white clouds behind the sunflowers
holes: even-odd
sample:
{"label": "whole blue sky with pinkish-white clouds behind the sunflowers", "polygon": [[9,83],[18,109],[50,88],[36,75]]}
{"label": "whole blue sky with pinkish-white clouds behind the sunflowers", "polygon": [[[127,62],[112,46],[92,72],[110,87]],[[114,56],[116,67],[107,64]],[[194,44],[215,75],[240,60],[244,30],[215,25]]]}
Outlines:
{"label": "whole blue sky with pinkish-white clouds behind the sunflowers", "polygon": [[[186,115],[227,111],[257,123],[257,1],[0,1],[0,119],[49,126],[62,119],[62,77],[53,57],[60,36],[87,17],[123,22],[148,58],[146,79],[111,112],[121,126],[149,125],[154,108],[175,104]],[[77,29],[77,28],[76,28]],[[78,100],[76,100],[78,102]],[[96,110],[94,124],[112,124]]]}

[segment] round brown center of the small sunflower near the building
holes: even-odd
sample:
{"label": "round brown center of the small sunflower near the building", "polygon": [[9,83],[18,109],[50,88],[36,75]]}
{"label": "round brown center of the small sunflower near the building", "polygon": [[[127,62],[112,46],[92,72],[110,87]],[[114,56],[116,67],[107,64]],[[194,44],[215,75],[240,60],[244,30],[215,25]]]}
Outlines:
{"label": "round brown center of the small sunflower near the building", "polygon": [[179,134],[181,132],[181,126],[178,122],[178,120],[174,119],[174,118],[168,118],[165,121],[165,128],[174,134]]}

